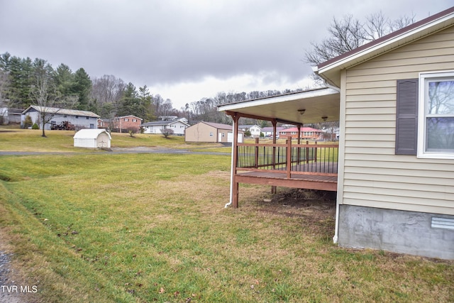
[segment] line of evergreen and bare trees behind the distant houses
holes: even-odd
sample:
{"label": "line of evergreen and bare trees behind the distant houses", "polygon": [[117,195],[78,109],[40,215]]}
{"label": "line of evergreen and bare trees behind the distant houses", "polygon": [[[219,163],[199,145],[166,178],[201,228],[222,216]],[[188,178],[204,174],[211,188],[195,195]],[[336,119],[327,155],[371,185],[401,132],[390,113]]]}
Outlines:
{"label": "line of evergreen and bare trees behind the distant houses", "polygon": [[231,123],[216,107],[236,101],[292,92],[218,92],[214,97],[192,101],[180,109],[170,99],[151,94],[146,85],[136,88],[114,75],[90,78],[84,68],[73,72],[68,65],[52,67],[47,60],[0,55],[0,107],[26,109],[30,105],[92,111],[102,118],[138,116],[154,121],[158,116],[179,116],[188,121]]}

